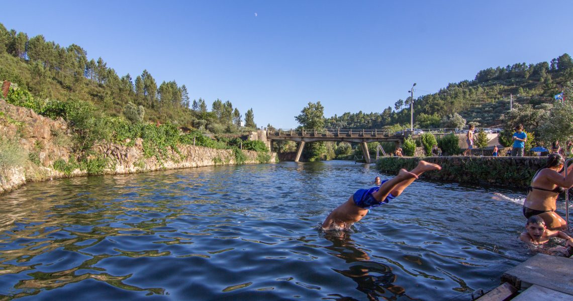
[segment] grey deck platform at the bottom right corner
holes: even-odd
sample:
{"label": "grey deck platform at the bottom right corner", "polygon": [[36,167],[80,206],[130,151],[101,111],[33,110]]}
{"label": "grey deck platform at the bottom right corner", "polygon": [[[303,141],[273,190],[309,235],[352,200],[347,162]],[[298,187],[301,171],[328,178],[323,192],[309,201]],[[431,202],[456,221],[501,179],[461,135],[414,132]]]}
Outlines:
{"label": "grey deck platform at the bottom right corner", "polygon": [[573,295],[573,259],[537,254],[501,276],[518,290],[533,284]]}

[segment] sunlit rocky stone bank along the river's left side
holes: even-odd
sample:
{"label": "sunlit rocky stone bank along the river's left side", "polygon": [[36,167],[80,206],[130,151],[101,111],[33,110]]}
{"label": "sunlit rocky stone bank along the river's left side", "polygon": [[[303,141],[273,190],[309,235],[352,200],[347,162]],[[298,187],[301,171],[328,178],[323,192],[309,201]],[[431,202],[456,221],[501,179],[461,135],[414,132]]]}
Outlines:
{"label": "sunlit rocky stone bank along the river's left side", "polygon": [[[276,161],[275,153],[242,150],[242,164]],[[141,138],[124,144],[101,142],[91,149],[89,159],[97,159],[98,173],[116,175],[237,164],[232,149],[212,149],[203,146],[178,145],[168,147],[160,156],[146,156]],[[0,99],[0,193],[13,190],[28,181],[42,181],[70,176],[86,176],[89,169],[74,168],[78,154],[72,150],[72,135],[62,119],[52,120],[31,109],[8,104]],[[69,170],[54,168],[66,165]]]}

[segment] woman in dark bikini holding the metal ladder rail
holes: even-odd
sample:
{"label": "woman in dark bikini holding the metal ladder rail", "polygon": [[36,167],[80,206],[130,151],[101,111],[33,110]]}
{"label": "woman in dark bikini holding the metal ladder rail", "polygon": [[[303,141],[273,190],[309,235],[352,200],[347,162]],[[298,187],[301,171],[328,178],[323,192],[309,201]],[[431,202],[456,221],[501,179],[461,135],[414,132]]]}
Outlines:
{"label": "woman in dark bikini holding the metal ladder rail", "polygon": [[[547,165],[539,169],[529,186],[529,193],[523,203],[523,215],[529,218],[539,215],[549,229],[564,229],[566,221],[555,213],[559,193],[573,186],[573,164],[570,165],[567,177],[563,169],[563,156],[551,154],[547,157]],[[562,173],[559,173],[563,169]]]}

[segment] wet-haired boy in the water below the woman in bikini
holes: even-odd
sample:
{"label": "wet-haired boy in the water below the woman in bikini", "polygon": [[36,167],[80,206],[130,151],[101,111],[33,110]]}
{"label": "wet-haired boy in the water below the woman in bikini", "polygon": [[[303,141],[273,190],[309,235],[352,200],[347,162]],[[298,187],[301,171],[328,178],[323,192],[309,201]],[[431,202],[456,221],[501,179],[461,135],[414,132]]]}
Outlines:
{"label": "wet-haired boy in the water below the woman in bikini", "polygon": [[559,237],[566,240],[565,247],[556,247],[549,249],[550,252],[560,253],[562,255],[571,256],[573,252],[573,238],[561,231],[548,230],[545,226],[545,221],[539,215],[533,215],[527,219],[525,224],[527,231],[522,232],[519,236],[521,241],[532,244],[547,243],[550,237]]}

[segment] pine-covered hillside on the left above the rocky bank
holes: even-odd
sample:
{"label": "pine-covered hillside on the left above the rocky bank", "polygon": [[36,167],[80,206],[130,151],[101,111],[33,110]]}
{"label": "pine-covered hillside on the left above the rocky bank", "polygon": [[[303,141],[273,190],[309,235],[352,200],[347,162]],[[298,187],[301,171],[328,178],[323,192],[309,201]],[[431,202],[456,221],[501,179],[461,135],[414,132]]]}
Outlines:
{"label": "pine-covered hillside on the left above the rocky bank", "polygon": [[[237,132],[242,121],[230,101],[215,100],[208,110],[205,100],[191,101],[186,86],[175,80],[158,85],[147,70],[135,78],[130,74],[120,77],[103,58],[89,59],[79,45],[63,47],[42,35],[29,38],[26,33],[7,30],[2,23],[0,80],[17,83],[37,98],[90,101],[110,116],[142,106],[146,121],[213,133]],[[256,128],[253,109],[245,113],[245,126]]]}

